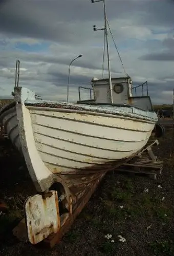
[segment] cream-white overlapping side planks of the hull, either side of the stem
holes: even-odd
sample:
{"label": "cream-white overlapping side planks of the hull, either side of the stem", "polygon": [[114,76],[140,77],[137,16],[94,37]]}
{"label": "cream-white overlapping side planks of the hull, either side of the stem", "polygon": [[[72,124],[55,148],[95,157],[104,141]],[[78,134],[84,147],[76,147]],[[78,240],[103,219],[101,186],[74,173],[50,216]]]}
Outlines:
{"label": "cream-white overlapping side planks of the hull, either side of the stem", "polygon": [[[25,106],[35,146],[52,173],[99,169],[134,156],[147,143],[155,123]],[[3,125],[21,152],[16,108],[4,112]]]}

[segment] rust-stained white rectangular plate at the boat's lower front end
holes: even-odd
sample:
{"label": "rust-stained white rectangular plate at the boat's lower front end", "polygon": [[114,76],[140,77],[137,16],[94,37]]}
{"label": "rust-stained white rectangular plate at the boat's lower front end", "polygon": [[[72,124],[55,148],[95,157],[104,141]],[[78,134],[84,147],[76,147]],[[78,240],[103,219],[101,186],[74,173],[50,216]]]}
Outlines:
{"label": "rust-stained white rectangular plate at the boat's lower front end", "polygon": [[25,219],[28,239],[37,244],[51,233],[60,229],[60,216],[57,191],[51,190],[44,195],[34,195],[25,202]]}

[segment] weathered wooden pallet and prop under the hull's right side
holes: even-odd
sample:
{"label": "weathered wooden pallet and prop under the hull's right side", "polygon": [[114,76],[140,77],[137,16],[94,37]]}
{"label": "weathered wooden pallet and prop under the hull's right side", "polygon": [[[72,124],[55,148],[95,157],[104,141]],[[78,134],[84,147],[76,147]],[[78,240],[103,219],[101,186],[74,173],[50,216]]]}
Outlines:
{"label": "weathered wooden pallet and prop under the hull's right side", "polygon": [[162,173],[163,161],[159,161],[152,151],[152,146],[159,145],[158,140],[148,141],[142,151],[130,161],[122,164],[117,172],[130,175],[145,175],[156,179]]}

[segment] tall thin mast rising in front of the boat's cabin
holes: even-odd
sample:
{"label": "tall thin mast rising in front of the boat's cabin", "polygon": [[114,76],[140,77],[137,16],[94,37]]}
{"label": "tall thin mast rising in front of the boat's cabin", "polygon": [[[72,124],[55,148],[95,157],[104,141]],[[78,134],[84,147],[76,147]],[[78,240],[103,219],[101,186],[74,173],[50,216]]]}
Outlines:
{"label": "tall thin mast rising in front of the boat's cabin", "polygon": [[109,84],[110,84],[110,95],[111,95],[111,103],[113,104],[113,87],[112,87],[112,79],[111,79],[111,67],[110,67],[110,53],[108,49],[108,34],[107,34],[107,17],[106,17],[106,5],[105,0],[91,0],[92,3],[101,2],[103,1],[104,7],[104,28],[103,29],[96,29],[96,26],[93,26],[93,30],[104,30],[105,37],[106,37],[106,48],[107,48],[107,65],[108,65],[108,77],[109,77]]}

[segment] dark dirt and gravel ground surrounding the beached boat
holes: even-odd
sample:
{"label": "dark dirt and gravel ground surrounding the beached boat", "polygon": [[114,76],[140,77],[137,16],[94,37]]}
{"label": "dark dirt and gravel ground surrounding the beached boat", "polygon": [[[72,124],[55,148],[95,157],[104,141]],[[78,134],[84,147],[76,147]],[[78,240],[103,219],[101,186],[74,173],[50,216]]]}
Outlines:
{"label": "dark dirt and gravel ground surrounding the beached boat", "polygon": [[154,149],[164,168],[157,180],[108,174],[62,242],[43,249],[19,242],[10,231],[23,218],[23,203],[35,188],[24,161],[10,142],[1,140],[0,199],[9,212],[0,216],[0,255],[173,256],[173,131],[168,129],[159,141]]}

